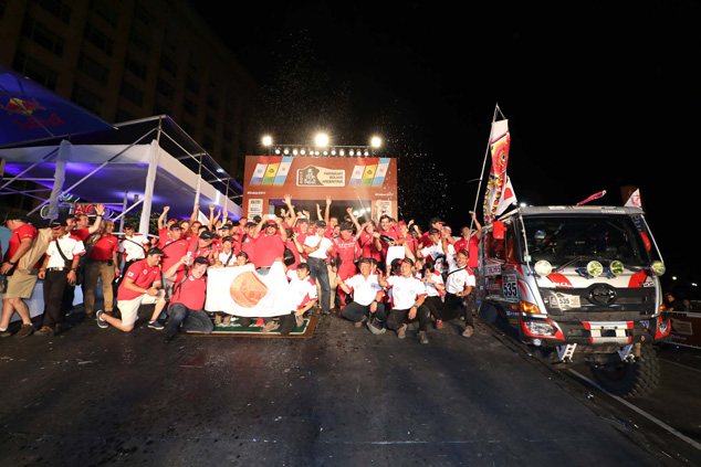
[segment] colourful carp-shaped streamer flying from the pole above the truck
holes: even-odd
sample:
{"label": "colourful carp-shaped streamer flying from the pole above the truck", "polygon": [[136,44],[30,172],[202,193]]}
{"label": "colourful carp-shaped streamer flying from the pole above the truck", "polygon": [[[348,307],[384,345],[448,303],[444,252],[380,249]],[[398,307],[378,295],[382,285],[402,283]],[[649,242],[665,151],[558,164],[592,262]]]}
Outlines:
{"label": "colourful carp-shaped streamer flying from the pole above the truck", "polygon": [[506,166],[509,163],[509,120],[499,120],[492,124],[490,135],[490,150],[492,152],[492,169],[484,192],[484,223],[491,224],[496,217],[496,210],[506,185]]}

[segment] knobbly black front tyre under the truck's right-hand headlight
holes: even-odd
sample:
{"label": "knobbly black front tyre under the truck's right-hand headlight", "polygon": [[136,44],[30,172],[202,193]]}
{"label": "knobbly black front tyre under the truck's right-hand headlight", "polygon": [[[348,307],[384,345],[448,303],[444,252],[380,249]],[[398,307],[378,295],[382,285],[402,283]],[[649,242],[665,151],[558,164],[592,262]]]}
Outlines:
{"label": "knobbly black front tyre under the truck's right-hand headlight", "polygon": [[650,395],[660,383],[660,363],[651,344],[640,348],[640,358],[635,363],[593,367],[592,373],[601,388],[625,399]]}

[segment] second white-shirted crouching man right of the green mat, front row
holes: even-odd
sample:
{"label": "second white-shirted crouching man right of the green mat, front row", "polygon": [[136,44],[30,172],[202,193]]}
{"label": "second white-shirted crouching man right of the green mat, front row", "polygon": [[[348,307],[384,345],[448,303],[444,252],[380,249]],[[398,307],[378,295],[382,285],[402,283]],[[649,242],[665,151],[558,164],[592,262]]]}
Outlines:
{"label": "second white-shirted crouching man right of the green mat, front row", "polygon": [[387,328],[397,331],[397,337],[404,339],[407,325],[419,321],[419,340],[428,343],[428,325],[431,321],[428,308],[423,305],[426,287],[423,283],[414,276],[414,262],[410,258],[401,259],[401,275],[389,276],[387,279],[379,277],[379,285],[391,288],[391,310],[387,317]]}

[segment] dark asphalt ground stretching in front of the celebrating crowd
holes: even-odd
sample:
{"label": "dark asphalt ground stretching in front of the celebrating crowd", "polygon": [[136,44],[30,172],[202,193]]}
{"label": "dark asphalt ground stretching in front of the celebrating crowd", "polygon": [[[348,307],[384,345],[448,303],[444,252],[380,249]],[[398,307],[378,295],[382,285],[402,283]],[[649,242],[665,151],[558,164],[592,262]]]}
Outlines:
{"label": "dark asphalt ground stretching in front of the celebrating crowd", "polygon": [[482,323],[429,344],[337,317],[312,339],[166,344],[145,315],[0,341],[0,465],[699,465]]}

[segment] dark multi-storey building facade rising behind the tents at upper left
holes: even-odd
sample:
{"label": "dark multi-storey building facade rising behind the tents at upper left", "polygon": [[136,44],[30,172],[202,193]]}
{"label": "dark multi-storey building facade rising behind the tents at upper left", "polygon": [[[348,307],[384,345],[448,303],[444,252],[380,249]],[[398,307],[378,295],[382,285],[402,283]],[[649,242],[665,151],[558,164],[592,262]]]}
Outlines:
{"label": "dark multi-storey building facade rising behind the tents at upper left", "polygon": [[0,63],[109,123],[167,114],[242,182],[260,88],[187,0],[0,0]]}

